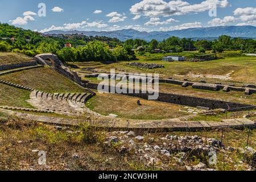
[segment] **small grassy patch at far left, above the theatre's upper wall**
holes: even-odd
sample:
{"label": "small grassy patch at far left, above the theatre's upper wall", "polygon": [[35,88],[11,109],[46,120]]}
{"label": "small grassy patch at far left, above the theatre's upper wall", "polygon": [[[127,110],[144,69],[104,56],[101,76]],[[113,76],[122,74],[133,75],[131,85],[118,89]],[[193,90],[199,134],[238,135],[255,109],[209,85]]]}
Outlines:
{"label": "small grassy patch at far left, above the theatre's upper wall", "polygon": [[19,53],[0,52],[0,65],[15,64],[32,61],[32,57]]}

